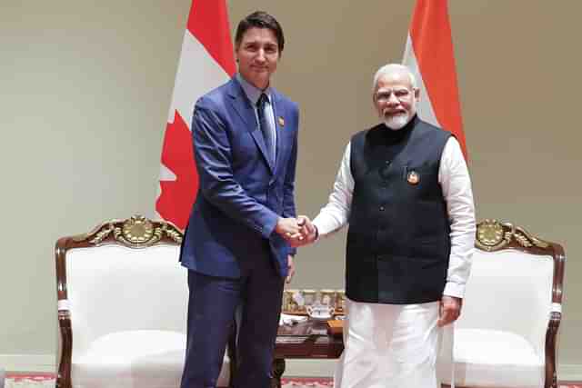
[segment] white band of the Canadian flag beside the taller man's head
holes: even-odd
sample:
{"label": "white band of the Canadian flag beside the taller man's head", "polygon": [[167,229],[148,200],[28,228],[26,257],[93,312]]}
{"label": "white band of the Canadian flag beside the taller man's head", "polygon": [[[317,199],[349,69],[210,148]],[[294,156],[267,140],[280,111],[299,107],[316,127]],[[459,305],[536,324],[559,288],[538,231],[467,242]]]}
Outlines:
{"label": "white band of the Canadian flag beside the taller man's head", "polygon": [[168,123],[174,123],[174,113],[177,110],[190,128],[196,100],[217,85],[224,84],[229,78],[222,66],[208,54],[206,47],[186,29]]}

